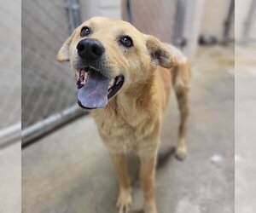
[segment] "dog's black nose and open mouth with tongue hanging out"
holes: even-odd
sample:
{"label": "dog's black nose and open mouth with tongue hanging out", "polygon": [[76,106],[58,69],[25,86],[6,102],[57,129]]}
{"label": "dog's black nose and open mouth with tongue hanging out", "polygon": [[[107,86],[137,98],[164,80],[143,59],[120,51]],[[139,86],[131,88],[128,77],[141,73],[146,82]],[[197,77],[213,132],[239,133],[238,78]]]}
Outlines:
{"label": "dog's black nose and open mouth with tongue hanging out", "polygon": [[122,87],[125,78],[122,75],[110,78],[108,70],[99,66],[105,52],[100,41],[84,38],[78,43],[77,49],[82,66],[77,83],[78,104],[86,109],[106,107],[108,100]]}

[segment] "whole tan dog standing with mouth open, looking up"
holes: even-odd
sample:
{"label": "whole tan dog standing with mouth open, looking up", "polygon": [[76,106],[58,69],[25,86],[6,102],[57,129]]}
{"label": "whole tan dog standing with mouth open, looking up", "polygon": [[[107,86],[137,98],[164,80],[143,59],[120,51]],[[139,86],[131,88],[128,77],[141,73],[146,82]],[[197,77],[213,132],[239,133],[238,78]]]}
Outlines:
{"label": "whole tan dog standing with mouth open, looking up", "polygon": [[57,60],[70,61],[78,78],[80,107],[91,110],[119,180],[119,212],[131,206],[125,154],[141,159],[145,213],[156,213],[154,171],[160,127],[171,85],[181,123],[176,156],[187,155],[189,65],[181,52],[122,21],[96,17],[67,38]]}

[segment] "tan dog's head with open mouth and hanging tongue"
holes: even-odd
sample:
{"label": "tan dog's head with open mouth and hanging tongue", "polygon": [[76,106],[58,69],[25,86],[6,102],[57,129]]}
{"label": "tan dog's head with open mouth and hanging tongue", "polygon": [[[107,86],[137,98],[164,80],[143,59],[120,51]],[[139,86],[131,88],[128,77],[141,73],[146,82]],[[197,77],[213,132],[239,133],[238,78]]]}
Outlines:
{"label": "tan dog's head with open mouth and hanging tongue", "polygon": [[114,95],[143,83],[156,66],[171,68],[170,49],[123,20],[85,21],[61,47],[58,61],[70,61],[78,78],[80,107],[101,108]]}

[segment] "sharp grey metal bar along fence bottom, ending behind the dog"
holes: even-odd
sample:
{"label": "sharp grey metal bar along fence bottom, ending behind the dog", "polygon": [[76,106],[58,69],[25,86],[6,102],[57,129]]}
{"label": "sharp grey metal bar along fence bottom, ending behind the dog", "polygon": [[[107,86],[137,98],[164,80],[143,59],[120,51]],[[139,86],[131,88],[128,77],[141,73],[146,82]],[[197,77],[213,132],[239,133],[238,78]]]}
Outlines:
{"label": "sharp grey metal bar along fence bottom, ending behind the dog", "polygon": [[86,114],[86,111],[75,105],[63,110],[62,112],[56,113],[37,124],[33,124],[21,131],[22,147],[26,147],[39,137],[48,134],[52,130],[55,130],[63,124],[67,124],[67,122],[74,118],[78,118],[79,116],[83,116],[84,114]]}

